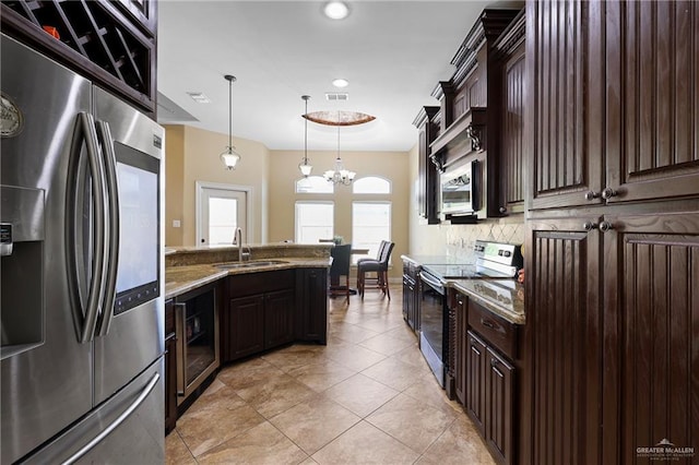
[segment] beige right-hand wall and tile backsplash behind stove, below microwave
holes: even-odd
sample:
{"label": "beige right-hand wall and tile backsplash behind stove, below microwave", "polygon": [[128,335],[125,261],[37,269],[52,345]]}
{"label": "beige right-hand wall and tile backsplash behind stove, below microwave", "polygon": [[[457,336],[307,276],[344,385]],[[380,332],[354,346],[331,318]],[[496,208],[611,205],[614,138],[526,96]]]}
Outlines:
{"label": "beige right-hand wall and tile backsplash behind stove, below microwave", "polygon": [[[411,199],[416,199],[417,188],[417,145],[408,153]],[[499,242],[524,242],[524,216],[512,215],[502,219],[485,219],[476,225],[428,225],[418,216],[417,202],[410,207],[410,246],[413,255],[449,254],[472,260],[471,251],[476,239]]]}

